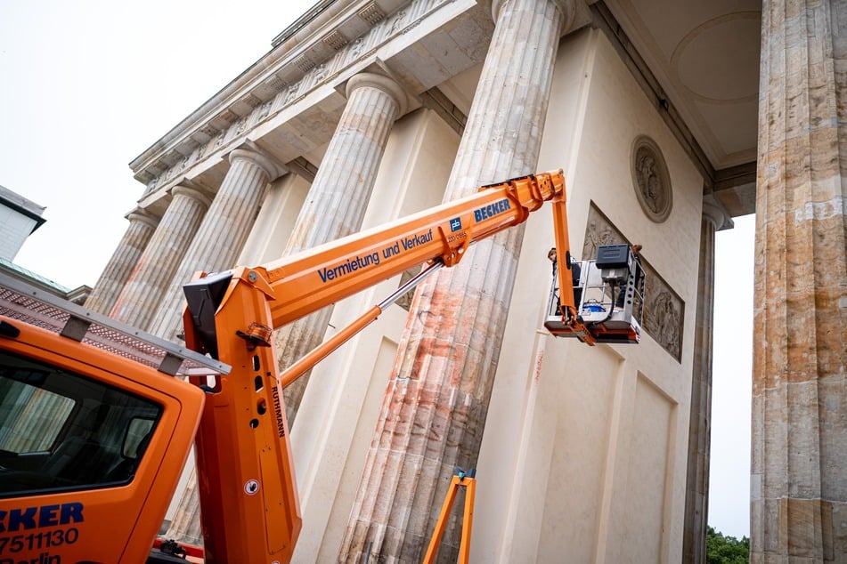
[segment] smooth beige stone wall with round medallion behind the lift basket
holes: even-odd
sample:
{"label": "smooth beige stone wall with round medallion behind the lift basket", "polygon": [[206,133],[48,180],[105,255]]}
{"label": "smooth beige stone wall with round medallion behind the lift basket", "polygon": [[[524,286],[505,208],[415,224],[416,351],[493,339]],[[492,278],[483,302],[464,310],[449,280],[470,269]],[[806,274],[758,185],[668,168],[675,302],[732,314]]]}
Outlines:
{"label": "smooth beige stone wall with round medallion behind the lift basket", "polygon": [[[538,168],[566,170],[572,251],[591,245],[601,217],[615,237],[643,245],[650,286],[679,308],[678,344],[653,329],[638,346],[546,334],[551,221],[530,218],[480,453],[472,553],[680,561],[694,330],[684,304],[696,303],[702,181],[604,36],[566,37],[554,80]],[[639,205],[631,151],[641,135],[667,165],[663,222]]]}

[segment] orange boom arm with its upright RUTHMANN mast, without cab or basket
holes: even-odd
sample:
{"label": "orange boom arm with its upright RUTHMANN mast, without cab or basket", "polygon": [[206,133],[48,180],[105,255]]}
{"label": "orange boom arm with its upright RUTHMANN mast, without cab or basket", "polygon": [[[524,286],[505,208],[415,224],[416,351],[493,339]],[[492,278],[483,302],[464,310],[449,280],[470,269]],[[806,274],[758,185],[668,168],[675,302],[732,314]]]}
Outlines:
{"label": "orange boom arm with its upright RUTHMANN mast, without cab or basket", "polygon": [[212,388],[195,442],[208,562],[291,558],[301,518],[281,390],[376,319],[390,301],[373,306],[283,374],[271,346],[273,328],[412,266],[452,266],[471,243],[525,222],[545,201],[558,208],[556,229],[566,230],[565,178],[559,170],[487,186],[264,267],[240,267],[184,286],[186,344],[232,367],[229,375],[205,383]]}

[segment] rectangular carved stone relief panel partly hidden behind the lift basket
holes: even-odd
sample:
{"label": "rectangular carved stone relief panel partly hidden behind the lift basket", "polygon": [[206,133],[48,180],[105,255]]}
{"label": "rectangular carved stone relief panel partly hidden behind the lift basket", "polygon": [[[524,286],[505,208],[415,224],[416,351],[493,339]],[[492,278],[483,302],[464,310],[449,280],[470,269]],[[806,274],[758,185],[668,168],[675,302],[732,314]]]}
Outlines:
{"label": "rectangular carved stone relief panel partly hidden behind the lift basket", "polygon": [[[591,202],[588,223],[585,226],[585,242],[582,245],[582,260],[586,261],[597,256],[597,247],[625,243],[632,245],[623,237],[598,208]],[[644,318],[642,328],[674,359],[682,359],[682,321],[685,313],[685,302],[672,287],[664,281],[656,269],[644,258],[641,252],[641,267],[644,269]]]}

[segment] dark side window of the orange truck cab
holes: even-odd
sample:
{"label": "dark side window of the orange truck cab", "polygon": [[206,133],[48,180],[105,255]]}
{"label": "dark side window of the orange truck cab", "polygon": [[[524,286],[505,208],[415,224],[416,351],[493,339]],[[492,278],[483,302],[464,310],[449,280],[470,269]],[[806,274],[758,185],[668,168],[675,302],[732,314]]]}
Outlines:
{"label": "dark side window of the orange truck cab", "polygon": [[0,350],[0,497],[129,483],[162,408]]}

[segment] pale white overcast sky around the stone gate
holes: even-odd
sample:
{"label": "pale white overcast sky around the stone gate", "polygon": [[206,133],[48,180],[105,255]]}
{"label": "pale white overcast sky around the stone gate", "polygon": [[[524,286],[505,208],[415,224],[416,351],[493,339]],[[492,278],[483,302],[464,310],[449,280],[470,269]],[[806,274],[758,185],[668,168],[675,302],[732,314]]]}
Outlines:
{"label": "pale white overcast sky around the stone gate", "polygon": [[[0,185],[46,206],[14,262],[94,286],[143,192],[128,163],[315,0],[0,0]],[[716,236],[709,523],[749,536],[753,216]]]}

